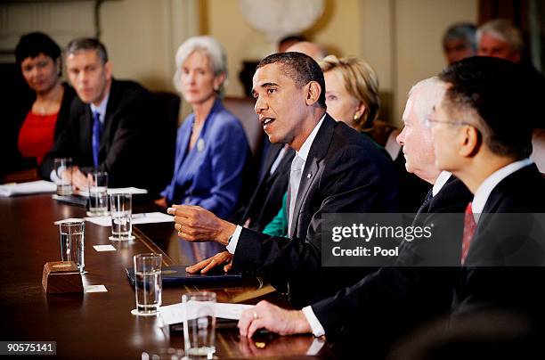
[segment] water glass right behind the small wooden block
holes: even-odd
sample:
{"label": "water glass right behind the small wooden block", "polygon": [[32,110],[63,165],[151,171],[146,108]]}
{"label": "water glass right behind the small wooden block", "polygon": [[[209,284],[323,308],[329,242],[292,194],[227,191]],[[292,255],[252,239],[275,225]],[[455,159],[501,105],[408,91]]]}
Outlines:
{"label": "water glass right behind the small wooden block", "polygon": [[61,260],[74,261],[77,269],[84,274],[85,269],[85,222],[66,221],[59,224],[61,233]]}

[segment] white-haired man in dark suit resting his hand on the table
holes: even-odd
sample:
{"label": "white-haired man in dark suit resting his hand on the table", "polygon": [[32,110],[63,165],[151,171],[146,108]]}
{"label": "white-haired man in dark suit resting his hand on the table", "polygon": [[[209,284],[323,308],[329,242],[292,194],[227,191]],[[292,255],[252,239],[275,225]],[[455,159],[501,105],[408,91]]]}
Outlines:
{"label": "white-haired man in dark suit resting his hand on the table", "polygon": [[460,254],[462,227],[452,223],[452,213],[462,213],[471,199],[459,179],[436,168],[431,133],[424,125],[443,93],[444,85],[437,78],[413,86],[403,113],[405,127],[397,137],[403,145],[407,170],[434,185],[413,222],[432,225],[432,241],[403,242],[395,266],[382,267],[302,311],[284,310],[262,301],[241,316],[242,336],[251,337],[260,328],[281,334],[313,332],[352,344],[348,351],[357,343],[365,356],[374,358],[383,356],[403,333],[448,312],[457,268],[420,263],[423,253],[435,256],[427,260],[440,266],[451,265],[452,253]]}

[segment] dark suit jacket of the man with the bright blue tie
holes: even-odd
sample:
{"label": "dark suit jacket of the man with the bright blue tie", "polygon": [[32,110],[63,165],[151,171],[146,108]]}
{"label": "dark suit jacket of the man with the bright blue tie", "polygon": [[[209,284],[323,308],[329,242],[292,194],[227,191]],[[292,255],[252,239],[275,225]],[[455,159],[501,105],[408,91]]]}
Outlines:
{"label": "dark suit jacket of the man with the bright blue tie", "polygon": [[[155,159],[161,141],[153,124],[150,93],[132,81],[113,79],[104,118],[98,167],[109,174],[110,187],[136,186],[159,192]],[[93,117],[91,107],[76,98],[70,109],[69,127],[46,155],[40,176],[50,179],[54,158],[71,157],[80,168],[93,168]]]}

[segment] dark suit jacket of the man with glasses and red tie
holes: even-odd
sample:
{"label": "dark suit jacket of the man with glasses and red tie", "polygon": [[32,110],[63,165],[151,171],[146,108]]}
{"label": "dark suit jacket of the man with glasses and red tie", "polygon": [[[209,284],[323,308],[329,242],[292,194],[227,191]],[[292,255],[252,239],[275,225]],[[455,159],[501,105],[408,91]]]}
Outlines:
{"label": "dark suit jacket of the man with glasses and red tie", "polygon": [[543,189],[545,180],[531,165],[506,177],[492,190],[461,268],[452,321],[500,309],[526,315],[543,330],[545,234],[542,221],[538,224],[533,216],[526,215],[545,212]]}

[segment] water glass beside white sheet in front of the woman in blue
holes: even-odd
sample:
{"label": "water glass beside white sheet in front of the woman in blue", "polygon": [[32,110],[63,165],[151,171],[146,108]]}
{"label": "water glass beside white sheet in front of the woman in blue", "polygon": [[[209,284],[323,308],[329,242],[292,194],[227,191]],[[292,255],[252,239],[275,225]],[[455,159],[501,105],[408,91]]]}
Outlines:
{"label": "water glass beside white sheet in front of the woman in blue", "polygon": [[130,193],[112,193],[110,195],[110,215],[110,240],[133,240],[133,196]]}

